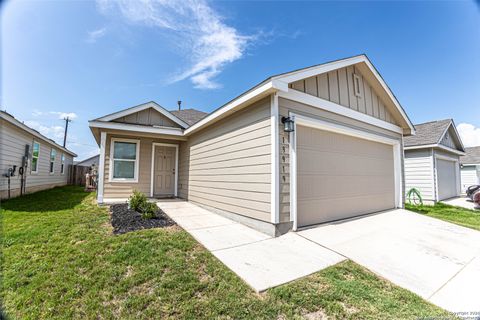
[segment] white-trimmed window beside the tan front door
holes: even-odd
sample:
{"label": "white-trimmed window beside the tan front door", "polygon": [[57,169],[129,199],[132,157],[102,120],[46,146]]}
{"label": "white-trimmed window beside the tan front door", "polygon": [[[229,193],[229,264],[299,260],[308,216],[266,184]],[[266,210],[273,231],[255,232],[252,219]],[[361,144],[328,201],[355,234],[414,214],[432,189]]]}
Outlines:
{"label": "white-trimmed window beside the tan front door", "polygon": [[136,182],[138,179],[140,141],[112,139],[110,148],[110,179],[112,181]]}

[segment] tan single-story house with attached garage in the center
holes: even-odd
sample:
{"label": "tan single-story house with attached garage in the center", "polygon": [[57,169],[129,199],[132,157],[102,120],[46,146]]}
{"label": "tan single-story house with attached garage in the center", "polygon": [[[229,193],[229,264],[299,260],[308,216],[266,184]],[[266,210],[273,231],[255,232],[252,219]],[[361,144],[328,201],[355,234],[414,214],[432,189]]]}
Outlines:
{"label": "tan single-story house with attached garage in the center", "polygon": [[403,207],[414,132],[365,55],[270,77],[197,122],[149,102],[89,124],[99,203],[137,189],[274,235]]}

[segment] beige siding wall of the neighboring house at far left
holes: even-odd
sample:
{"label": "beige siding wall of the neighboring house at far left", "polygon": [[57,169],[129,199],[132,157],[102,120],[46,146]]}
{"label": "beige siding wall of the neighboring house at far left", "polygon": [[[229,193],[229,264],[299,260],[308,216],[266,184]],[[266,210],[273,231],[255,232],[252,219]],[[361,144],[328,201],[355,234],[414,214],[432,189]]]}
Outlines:
{"label": "beige siding wall of the neighboring house at far left", "polygon": [[[66,185],[68,183],[68,172],[73,163],[71,155],[65,153],[65,174],[61,174],[61,156],[63,151],[46,140],[38,139],[32,134],[0,119],[0,172],[5,173],[13,165],[17,166],[16,176],[10,180],[12,192],[20,188],[20,175],[18,168],[22,164],[22,156],[25,153],[25,145],[30,145],[30,152],[33,140],[40,143],[38,160],[38,173],[31,173],[31,160],[26,170],[27,192],[48,189],[54,186]],[[54,148],[57,156],[54,164],[54,173],[50,174],[50,150]],[[0,190],[7,190],[7,179],[0,179]],[[2,193],[3,196],[3,193]]]}

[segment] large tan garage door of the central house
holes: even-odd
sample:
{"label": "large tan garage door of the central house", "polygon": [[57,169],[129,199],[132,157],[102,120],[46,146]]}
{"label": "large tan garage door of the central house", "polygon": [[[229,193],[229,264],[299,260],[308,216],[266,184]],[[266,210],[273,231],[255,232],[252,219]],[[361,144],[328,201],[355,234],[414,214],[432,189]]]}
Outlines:
{"label": "large tan garage door of the central house", "polygon": [[395,207],[391,145],[297,126],[297,225]]}

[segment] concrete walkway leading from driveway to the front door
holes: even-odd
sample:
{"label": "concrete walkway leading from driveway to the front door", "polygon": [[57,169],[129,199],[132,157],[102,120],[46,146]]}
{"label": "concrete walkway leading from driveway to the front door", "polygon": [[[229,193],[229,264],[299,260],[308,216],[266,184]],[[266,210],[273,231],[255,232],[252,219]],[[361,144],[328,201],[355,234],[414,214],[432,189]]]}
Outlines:
{"label": "concrete walkway leading from driveway to the front door", "polygon": [[257,292],[345,259],[296,233],[272,238],[186,201],[157,205]]}

